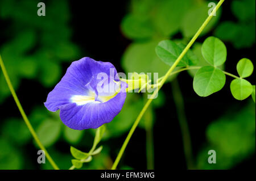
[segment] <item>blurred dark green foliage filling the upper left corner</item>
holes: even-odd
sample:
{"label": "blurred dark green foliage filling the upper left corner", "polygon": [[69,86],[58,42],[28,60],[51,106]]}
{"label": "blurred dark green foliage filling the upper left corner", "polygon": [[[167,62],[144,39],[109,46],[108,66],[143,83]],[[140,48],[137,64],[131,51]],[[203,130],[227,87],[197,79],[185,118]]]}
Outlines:
{"label": "blurred dark green foliage filling the upper left corner", "polygon": [[[20,79],[37,79],[52,87],[60,79],[61,62],[79,58],[79,48],[71,42],[70,13],[67,1],[47,2],[47,15],[37,15],[39,1],[0,1],[0,18],[8,41],[0,53],[15,89]],[[0,74],[0,103],[10,95]]]}

